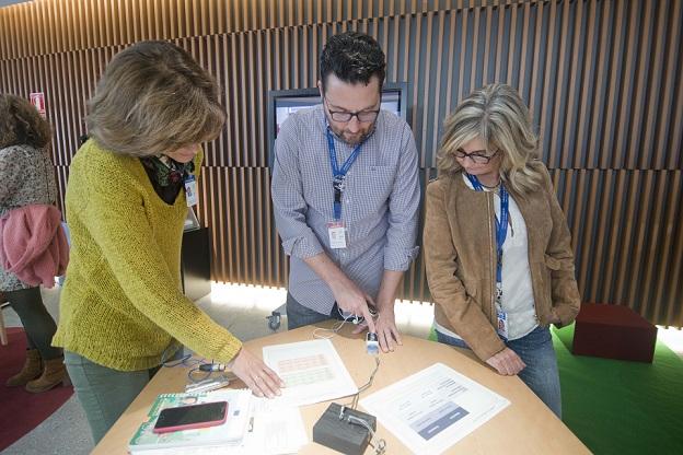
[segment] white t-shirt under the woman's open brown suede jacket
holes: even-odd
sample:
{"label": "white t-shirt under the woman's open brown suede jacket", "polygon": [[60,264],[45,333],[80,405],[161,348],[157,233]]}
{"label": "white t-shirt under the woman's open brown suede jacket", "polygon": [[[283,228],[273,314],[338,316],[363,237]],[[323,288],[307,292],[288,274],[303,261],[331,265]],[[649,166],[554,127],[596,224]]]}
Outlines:
{"label": "white t-shirt under the woman's open brown suede jacket", "polygon": [[[463,173],[468,188],[474,190],[472,183]],[[489,189],[484,188],[485,191]],[[494,195],[496,217],[500,220],[500,196]],[[510,195],[508,210],[510,225],[502,244],[502,311],[508,314],[508,340],[516,340],[529,335],[539,326],[534,305],[533,284],[529,268],[529,245],[526,241],[526,223],[522,213]],[[458,334],[445,329],[435,322],[435,328],[444,335],[460,338]]]}

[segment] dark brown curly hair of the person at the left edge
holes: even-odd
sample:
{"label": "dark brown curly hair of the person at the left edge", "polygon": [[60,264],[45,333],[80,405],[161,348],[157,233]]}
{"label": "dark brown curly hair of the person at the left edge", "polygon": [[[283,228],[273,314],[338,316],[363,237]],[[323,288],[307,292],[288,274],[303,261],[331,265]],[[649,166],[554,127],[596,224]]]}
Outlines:
{"label": "dark brown curly hair of the person at the left edge", "polygon": [[0,93],[0,149],[20,144],[43,149],[51,136],[49,122],[28,100]]}

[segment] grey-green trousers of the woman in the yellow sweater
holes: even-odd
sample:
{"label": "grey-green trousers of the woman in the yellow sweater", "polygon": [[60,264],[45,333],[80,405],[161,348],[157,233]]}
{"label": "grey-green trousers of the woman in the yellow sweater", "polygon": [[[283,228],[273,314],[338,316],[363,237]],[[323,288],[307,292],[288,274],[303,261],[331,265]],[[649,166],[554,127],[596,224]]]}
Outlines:
{"label": "grey-green trousers of the woman in the yellow sweater", "polygon": [[[169,360],[180,360],[183,348]],[[83,355],[65,351],[65,364],[95,444],[100,442],[160,366],[140,371],[118,371]]]}

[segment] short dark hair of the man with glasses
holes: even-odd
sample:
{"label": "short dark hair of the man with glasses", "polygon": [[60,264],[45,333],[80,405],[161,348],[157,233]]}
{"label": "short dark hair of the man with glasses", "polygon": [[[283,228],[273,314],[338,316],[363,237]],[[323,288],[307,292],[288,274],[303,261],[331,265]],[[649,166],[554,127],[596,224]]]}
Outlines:
{"label": "short dark hair of the man with glasses", "polygon": [[327,75],[334,73],[347,83],[368,84],[377,75],[380,90],[386,74],[384,52],[372,36],[358,32],[345,32],[332,36],[321,54],[320,68],[323,91]]}

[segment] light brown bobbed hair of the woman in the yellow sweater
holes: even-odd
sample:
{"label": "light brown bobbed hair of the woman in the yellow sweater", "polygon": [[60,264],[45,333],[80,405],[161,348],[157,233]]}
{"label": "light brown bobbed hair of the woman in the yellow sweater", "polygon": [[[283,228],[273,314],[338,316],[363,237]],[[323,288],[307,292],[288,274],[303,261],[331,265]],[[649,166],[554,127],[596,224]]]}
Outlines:
{"label": "light brown bobbed hair of the woman in the yellow sweater", "polygon": [[184,49],[141,42],[107,65],[86,117],[103,148],[159,155],[216,139],[225,122],[216,80]]}

